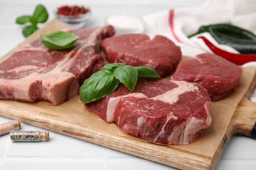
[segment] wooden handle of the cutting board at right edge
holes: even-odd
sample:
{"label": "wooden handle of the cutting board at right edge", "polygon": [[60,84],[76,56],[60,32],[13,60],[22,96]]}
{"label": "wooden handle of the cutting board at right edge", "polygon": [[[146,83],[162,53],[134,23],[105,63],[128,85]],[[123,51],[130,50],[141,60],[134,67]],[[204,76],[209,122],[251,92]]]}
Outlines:
{"label": "wooden handle of the cutting board at right edge", "polygon": [[239,134],[256,139],[256,103],[243,97],[230,124],[232,125],[232,135]]}

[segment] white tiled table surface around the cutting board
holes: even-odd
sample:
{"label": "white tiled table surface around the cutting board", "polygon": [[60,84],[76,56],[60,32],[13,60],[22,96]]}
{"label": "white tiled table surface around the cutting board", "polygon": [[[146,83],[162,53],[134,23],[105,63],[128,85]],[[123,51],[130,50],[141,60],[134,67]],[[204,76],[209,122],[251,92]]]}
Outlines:
{"label": "white tiled table surface around the cutting board", "polygon": [[[16,16],[30,14],[41,1],[0,0],[0,56],[24,41]],[[104,25],[106,16],[145,16],[173,7],[200,5],[203,0],[133,1],[43,1],[53,19],[53,9],[65,4],[85,4],[93,10],[90,25]],[[40,25],[43,26],[43,25]],[[0,116],[0,124],[10,121]],[[22,124],[22,129],[43,130]],[[50,141],[13,143],[9,135],[0,137],[0,169],[173,169],[159,163],[117,152],[96,144],[50,131]],[[256,169],[256,140],[235,136],[230,139],[216,169]]]}

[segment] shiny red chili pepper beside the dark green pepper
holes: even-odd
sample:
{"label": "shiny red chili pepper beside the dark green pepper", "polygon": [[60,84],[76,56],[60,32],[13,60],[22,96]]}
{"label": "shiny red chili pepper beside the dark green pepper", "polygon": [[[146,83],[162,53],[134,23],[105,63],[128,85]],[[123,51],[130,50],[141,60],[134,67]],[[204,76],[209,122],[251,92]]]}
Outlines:
{"label": "shiny red chili pepper beside the dark green pepper", "polygon": [[243,65],[249,61],[256,61],[256,54],[235,54],[232,52],[226,52],[225,50],[213,45],[213,43],[211,43],[205,37],[200,36],[198,38],[202,39],[212,52],[237,65]]}

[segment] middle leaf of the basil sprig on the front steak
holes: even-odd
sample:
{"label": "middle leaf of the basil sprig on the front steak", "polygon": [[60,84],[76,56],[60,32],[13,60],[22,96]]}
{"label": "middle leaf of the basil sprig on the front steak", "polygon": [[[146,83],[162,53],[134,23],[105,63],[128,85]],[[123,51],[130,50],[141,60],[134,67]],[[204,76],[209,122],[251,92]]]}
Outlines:
{"label": "middle leaf of the basil sprig on the front steak", "polygon": [[114,76],[125,85],[131,92],[133,92],[137,84],[138,72],[137,69],[130,65],[117,67],[114,71]]}

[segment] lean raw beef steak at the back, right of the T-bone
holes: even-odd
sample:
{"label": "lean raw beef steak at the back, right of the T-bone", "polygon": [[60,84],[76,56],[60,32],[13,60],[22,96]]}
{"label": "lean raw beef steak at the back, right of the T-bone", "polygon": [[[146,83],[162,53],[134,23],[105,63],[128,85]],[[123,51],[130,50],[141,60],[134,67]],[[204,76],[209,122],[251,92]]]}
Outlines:
{"label": "lean raw beef steak at the back, right of the T-bone", "polygon": [[104,39],[102,50],[110,63],[148,66],[163,77],[181,61],[181,49],[166,37],[156,35],[150,40],[144,34],[117,35]]}

